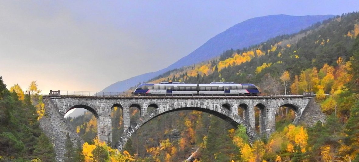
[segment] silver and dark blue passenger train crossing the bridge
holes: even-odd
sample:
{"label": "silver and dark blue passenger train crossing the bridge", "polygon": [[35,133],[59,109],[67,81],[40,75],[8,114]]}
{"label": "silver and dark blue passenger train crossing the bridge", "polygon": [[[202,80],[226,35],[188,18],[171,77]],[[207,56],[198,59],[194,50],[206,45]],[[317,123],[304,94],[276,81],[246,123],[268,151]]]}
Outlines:
{"label": "silver and dark blue passenger train crossing the bridge", "polygon": [[254,84],[212,82],[186,84],[184,82],[160,82],[140,84],[132,94],[136,96],[244,96],[260,94]]}

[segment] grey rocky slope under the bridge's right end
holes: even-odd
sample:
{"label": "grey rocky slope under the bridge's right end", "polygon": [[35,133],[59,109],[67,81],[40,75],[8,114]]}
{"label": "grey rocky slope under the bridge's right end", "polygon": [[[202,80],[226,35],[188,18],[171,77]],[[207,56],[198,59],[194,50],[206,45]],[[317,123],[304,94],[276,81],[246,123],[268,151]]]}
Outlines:
{"label": "grey rocky slope under the bridge's right end", "polygon": [[323,114],[320,105],[313,98],[309,101],[307,108],[304,109],[302,116],[299,118],[299,123],[305,124],[308,127],[314,126],[318,121],[325,122],[326,115]]}

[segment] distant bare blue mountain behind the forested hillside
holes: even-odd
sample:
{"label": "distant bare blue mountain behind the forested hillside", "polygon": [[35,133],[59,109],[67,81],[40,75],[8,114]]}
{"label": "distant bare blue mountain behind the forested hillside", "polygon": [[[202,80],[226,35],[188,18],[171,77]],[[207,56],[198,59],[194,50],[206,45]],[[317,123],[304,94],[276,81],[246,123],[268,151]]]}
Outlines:
{"label": "distant bare blue mountain behind the forested hillside", "polygon": [[244,48],[253,44],[259,44],[278,35],[297,33],[308,26],[332,17],[334,15],[270,15],[252,18],[214,36],[192,53],[169,65],[167,68],[116,82],[104,88],[102,92],[123,92],[139,82],[145,82],[169,70],[218,57],[223,51],[228,49]]}

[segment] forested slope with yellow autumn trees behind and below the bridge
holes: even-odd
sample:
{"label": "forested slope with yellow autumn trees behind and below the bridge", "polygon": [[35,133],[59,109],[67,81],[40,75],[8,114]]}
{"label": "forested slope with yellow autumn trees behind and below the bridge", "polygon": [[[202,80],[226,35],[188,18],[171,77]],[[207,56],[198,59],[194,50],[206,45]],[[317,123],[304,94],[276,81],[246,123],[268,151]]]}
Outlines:
{"label": "forested slope with yellow autumn trees behind and below the bridge", "polygon": [[[294,112],[280,107],[276,112],[276,132],[257,139],[250,147],[244,127],[235,129],[222,119],[199,111],[172,112],[137,129],[124,148],[123,158],[138,162],[183,161],[193,153],[191,161],[197,162],[358,161],[358,19],[359,13],[343,14],[297,34],[228,50],[219,58],[150,80],[154,83],[249,82],[265,94],[314,92],[321,111],[327,115],[326,123],[295,126],[291,124]],[[255,108],[257,130],[260,111]],[[139,110],[130,108],[130,113],[130,121],[135,122]],[[113,108],[113,141],[123,132],[121,114],[120,108]],[[240,107],[238,114],[243,117]],[[89,134],[93,127],[91,123],[83,123],[78,128],[80,133]],[[87,152],[94,148],[88,147],[89,144],[84,146]]]}

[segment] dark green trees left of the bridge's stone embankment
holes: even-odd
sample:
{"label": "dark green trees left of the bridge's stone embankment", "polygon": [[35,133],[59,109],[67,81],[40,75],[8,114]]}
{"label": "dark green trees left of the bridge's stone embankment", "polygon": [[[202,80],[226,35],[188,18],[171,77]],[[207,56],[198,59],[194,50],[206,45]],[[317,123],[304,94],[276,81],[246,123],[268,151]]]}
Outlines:
{"label": "dark green trees left of the bridge's stone embankment", "polygon": [[37,121],[36,108],[30,96],[19,100],[9,92],[0,77],[0,154],[5,161],[54,161],[52,144],[42,133]]}

